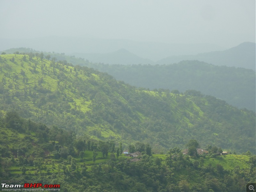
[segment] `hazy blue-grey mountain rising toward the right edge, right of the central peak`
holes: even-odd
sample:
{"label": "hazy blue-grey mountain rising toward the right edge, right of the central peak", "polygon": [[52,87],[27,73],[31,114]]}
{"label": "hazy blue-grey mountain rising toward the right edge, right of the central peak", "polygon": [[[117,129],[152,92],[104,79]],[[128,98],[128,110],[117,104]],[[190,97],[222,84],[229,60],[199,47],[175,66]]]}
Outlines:
{"label": "hazy blue-grey mountain rising toward the right edge, right of the central peak", "polygon": [[255,43],[244,42],[225,51],[200,53],[197,55],[171,56],[158,60],[157,64],[171,64],[182,60],[199,60],[213,65],[242,67],[255,71]]}

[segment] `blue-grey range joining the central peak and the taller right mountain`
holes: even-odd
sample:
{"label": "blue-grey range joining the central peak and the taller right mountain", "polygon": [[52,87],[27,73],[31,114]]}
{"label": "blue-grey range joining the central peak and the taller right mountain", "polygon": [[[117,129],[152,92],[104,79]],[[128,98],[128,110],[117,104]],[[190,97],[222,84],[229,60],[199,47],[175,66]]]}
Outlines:
{"label": "blue-grey range joining the central peak and the taller right mountain", "polygon": [[199,60],[213,65],[241,67],[253,69],[255,71],[255,43],[244,42],[225,51],[214,51],[199,53],[196,55],[180,55],[170,56],[156,62],[141,58],[126,49],[120,49],[116,52],[110,53],[73,53],[76,57],[81,57],[90,62],[104,63],[104,64],[121,64],[121,65],[137,65],[137,64],[172,64],[178,63],[182,60]]}

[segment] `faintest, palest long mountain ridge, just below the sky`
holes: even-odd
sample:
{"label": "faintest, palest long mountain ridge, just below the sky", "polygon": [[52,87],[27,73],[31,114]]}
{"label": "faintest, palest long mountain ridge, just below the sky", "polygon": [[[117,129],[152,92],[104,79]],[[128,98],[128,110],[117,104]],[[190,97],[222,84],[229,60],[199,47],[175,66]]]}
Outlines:
{"label": "faintest, palest long mountain ridge, just below the sky", "polygon": [[119,49],[142,58],[153,61],[172,55],[194,55],[202,52],[224,50],[216,44],[168,44],[159,42],[138,42],[127,39],[100,39],[85,37],[57,37],[48,36],[31,39],[4,39],[0,38],[0,50],[13,47],[33,47],[33,49],[46,52],[59,52],[69,54],[80,53],[109,53]]}

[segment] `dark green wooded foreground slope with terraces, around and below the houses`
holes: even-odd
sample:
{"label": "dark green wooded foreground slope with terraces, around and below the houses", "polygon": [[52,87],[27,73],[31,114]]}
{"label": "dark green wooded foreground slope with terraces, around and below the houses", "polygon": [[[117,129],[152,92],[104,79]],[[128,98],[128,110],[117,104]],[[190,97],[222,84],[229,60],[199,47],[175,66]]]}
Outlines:
{"label": "dark green wooded foreground slope with terraces, around and below the houses", "polygon": [[[208,155],[185,156],[175,147],[166,155],[147,153],[134,159],[120,154],[121,142],[75,136],[15,112],[1,113],[0,131],[0,177],[13,178],[7,185],[57,187],[23,190],[245,191],[247,183],[255,182],[255,156],[250,152],[218,156],[213,152],[216,146],[208,145]],[[136,149],[141,146],[136,142]]]}

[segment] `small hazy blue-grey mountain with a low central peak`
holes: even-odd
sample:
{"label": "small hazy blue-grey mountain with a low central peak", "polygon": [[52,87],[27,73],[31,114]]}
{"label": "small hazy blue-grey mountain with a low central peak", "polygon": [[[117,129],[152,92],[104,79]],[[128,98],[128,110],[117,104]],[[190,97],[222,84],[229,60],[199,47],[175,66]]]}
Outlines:
{"label": "small hazy blue-grey mountain with a low central peak", "polygon": [[84,58],[91,62],[108,63],[108,64],[153,64],[154,62],[149,59],[143,59],[126,49],[119,49],[111,53],[73,53],[76,57]]}

